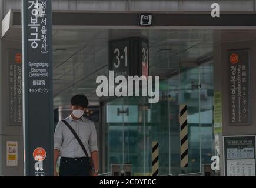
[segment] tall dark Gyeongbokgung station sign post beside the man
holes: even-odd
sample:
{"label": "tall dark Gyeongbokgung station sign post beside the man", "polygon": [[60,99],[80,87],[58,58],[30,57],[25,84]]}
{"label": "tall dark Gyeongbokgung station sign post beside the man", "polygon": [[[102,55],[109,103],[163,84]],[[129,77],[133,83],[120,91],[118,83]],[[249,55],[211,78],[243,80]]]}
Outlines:
{"label": "tall dark Gyeongbokgung station sign post beside the man", "polygon": [[25,176],[52,176],[51,0],[22,0],[22,58]]}

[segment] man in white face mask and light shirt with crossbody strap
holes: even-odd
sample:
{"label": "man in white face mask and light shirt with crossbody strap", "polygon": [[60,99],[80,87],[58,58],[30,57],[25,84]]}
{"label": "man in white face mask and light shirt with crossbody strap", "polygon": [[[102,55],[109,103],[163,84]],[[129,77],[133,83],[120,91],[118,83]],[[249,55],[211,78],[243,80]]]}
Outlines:
{"label": "man in white face mask and light shirt with crossbody strap", "polygon": [[54,134],[54,176],[58,176],[56,163],[59,155],[61,156],[59,176],[89,176],[90,163],[93,166],[93,176],[98,176],[98,147],[95,125],[82,116],[87,106],[86,96],[73,96],[71,98],[71,115],[58,122],[56,126]]}

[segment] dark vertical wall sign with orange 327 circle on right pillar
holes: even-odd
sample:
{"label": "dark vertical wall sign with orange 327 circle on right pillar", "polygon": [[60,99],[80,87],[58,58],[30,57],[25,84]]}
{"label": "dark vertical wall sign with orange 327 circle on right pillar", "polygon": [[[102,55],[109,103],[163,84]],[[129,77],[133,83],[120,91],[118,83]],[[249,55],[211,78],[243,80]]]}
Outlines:
{"label": "dark vertical wall sign with orange 327 circle on right pillar", "polygon": [[249,51],[230,51],[230,125],[250,125]]}

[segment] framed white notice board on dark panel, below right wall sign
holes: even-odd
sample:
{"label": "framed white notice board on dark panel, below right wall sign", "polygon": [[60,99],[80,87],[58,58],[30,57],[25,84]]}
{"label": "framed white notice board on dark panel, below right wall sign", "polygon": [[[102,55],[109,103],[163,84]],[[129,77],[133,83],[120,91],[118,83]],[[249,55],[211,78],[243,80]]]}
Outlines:
{"label": "framed white notice board on dark panel, below right wall sign", "polygon": [[255,136],[224,137],[225,176],[255,176]]}

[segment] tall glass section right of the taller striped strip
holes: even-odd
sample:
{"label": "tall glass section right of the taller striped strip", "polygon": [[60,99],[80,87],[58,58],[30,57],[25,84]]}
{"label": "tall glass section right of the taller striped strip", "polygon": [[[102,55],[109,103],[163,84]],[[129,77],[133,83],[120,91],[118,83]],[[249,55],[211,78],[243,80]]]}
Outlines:
{"label": "tall glass section right of the taller striped strip", "polygon": [[188,173],[201,172],[214,153],[213,62],[181,69],[180,103],[188,106]]}

